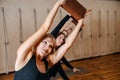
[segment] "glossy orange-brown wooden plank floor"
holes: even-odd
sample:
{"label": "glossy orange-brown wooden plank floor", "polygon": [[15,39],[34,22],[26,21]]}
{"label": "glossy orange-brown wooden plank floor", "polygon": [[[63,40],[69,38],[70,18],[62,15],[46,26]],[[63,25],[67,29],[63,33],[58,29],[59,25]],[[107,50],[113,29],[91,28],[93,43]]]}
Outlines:
{"label": "glossy orange-brown wooden plank floor", "polygon": [[[68,75],[70,80],[120,80],[120,53],[73,61],[71,64],[87,72]],[[13,77],[14,73],[0,75],[0,80],[13,80]]]}

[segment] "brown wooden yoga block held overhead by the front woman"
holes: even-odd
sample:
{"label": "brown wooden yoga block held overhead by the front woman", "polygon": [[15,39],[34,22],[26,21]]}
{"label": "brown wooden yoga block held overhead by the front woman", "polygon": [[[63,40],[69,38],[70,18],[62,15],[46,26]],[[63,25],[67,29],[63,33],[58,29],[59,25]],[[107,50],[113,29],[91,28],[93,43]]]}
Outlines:
{"label": "brown wooden yoga block held overhead by the front woman", "polygon": [[77,0],[66,0],[62,7],[76,20],[84,18],[86,13],[86,8],[83,7]]}

